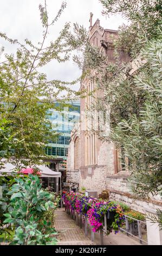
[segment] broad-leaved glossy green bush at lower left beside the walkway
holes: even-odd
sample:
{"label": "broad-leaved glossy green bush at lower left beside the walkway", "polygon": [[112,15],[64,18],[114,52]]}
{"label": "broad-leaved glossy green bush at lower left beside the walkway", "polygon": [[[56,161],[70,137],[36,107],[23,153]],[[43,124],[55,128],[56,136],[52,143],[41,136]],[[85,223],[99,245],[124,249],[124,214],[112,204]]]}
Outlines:
{"label": "broad-leaved glossy green bush at lower left beside the walkway", "polygon": [[9,200],[3,214],[3,224],[15,227],[10,244],[55,245],[56,231],[51,227],[47,212],[55,209],[56,205],[54,206],[53,195],[41,189],[38,176],[16,178],[7,195]]}

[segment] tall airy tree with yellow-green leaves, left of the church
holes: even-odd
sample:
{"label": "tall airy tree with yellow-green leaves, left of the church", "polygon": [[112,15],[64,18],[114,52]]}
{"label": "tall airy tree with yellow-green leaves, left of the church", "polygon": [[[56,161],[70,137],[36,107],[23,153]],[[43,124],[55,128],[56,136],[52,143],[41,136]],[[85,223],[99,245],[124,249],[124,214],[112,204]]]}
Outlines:
{"label": "tall airy tree with yellow-green leaves, left of the church", "polygon": [[0,129],[1,157],[14,156],[23,164],[38,163],[45,154],[43,148],[48,139],[57,136],[47,119],[47,110],[58,108],[56,101],[60,101],[62,107],[65,101],[76,96],[70,89],[76,81],[49,81],[41,72],[51,60],[63,63],[70,58],[72,48],[64,40],[69,23],[64,25],[56,40],[47,42],[49,27],[55,25],[64,8],[66,2],[62,3],[54,20],[49,21],[46,1],[44,6],[39,5],[43,34],[42,41],[36,45],[28,39],[22,44],[0,33],[1,39],[18,45],[16,54],[5,53],[5,60],[0,63],[0,119],[6,120]]}

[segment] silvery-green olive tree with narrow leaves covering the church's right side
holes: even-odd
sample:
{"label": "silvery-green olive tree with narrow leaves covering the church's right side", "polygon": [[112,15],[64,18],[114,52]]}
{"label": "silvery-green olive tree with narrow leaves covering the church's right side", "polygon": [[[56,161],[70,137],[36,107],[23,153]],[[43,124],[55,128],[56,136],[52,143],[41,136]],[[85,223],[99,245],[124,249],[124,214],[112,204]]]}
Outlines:
{"label": "silvery-green olive tree with narrow leaves covering the church's right side", "polygon": [[[84,40],[83,59],[74,58],[83,69],[82,77],[94,80],[96,88],[104,92],[88,109],[89,117],[93,118],[94,111],[109,112],[110,132],[103,136],[101,129],[96,131],[94,127],[94,130],[102,141],[114,142],[128,157],[129,164],[125,163],[125,167],[130,171],[133,191],[144,197],[162,195],[161,1],[100,2],[105,8],[103,14],[120,13],[129,24],[122,25],[118,39],[113,40],[115,63],[107,64],[101,51]],[[120,62],[121,50],[129,53],[136,63],[133,74],[131,63]]]}

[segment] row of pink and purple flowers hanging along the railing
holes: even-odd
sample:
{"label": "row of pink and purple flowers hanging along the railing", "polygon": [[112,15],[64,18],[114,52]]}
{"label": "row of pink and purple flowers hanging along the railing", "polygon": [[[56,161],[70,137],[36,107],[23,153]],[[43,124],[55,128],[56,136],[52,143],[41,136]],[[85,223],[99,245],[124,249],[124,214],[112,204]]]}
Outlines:
{"label": "row of pink and purple flowers hanging along the railing", "polygon": [[107,215],[107,235],[115,231],[118,233],[120,225],[124,221],[124,212],[120,205],[114,202],[105,202],[93,197],[82,196],[73,191],[63,192],[63,201],[73,212],[86,217],[93,232],[99,231],[104,225],[104,215]]}

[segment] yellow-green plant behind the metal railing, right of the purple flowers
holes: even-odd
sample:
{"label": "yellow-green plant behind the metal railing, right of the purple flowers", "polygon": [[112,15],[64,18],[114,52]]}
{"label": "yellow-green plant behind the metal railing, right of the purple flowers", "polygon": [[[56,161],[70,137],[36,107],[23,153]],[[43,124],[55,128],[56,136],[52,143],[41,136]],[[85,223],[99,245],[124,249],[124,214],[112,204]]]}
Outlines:
{"label": "yellow-green plant behind the metal railing, right of the purple flowers", "polygon": [[132,235],[138,235],[138,221],[144,221],[145,216],[137,211],[129,211],[126,212],[125,215],[135,218],[136,220],[133,220],[132,218],[128,218],[128,229],[127,231],[131,233]]}

